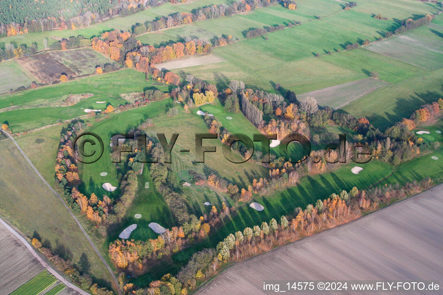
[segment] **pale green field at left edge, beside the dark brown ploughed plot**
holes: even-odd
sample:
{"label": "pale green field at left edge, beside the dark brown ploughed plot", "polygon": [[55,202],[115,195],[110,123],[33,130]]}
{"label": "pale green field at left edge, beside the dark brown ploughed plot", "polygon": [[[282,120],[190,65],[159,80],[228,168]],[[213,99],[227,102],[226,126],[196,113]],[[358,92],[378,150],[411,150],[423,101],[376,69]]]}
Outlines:
{"label": "pale green field at left edge, beside the dark brown ploughed plot", "polygon": [[29,87],[32,77],[16,61],[2,61],[0,63],[0,94],[6,93],[20,86]]}

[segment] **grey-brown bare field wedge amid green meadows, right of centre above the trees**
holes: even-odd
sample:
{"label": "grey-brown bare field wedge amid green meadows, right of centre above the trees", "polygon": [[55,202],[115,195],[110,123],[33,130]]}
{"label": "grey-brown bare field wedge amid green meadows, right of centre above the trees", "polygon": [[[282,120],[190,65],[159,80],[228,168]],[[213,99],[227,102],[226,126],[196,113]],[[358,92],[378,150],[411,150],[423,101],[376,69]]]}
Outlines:
{"label": "grey-brown bare field wedge amid green meadows, right of centre above the trees", "polygon": [[389,85],[389,83],[373,78],[366,78],[306,92],[297,95],[297,99],[302,100],[307,96],[312,96],[315,97],[319,105],[338,109],[385,85]]}

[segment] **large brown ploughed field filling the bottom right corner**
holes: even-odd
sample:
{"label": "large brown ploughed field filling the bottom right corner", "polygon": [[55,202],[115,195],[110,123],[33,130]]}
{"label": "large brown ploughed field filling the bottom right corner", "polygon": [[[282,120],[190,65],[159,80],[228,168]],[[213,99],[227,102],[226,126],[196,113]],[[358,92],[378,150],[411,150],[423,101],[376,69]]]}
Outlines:
{"label": "large brown ploughed field filling the bottom right corner", "polygon": [[234,265],[195,294],[277,294],[262,291],[272,280],[441,280],[442,188]]}

